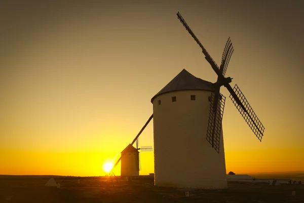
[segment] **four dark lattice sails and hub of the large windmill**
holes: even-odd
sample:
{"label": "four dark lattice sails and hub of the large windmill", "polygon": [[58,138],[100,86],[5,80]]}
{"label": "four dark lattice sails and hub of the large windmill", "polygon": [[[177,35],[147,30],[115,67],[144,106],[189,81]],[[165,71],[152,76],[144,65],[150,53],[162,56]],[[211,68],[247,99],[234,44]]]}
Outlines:
{"label": "four dark lattice sails and hub of the large windmill", "polygon": [[195,36],[191,28],[188,26],[186,21],[177,13],[177,17],[189,34],[194,38],[194,40],[201,47],[203,54],[205,55],[205,59],[210,63],[212,69],[217,75],[217,81],[213,84],[214,91],[210,96],[210,112],[209,112],[209,120],[208,120],[208,128],[207,128],[207,141],[211,144],[212,148],[214,148],[217,153],[219,153],[219,144],[220,144],[220,133],[221,133],[221,124],[222,117],[225,105],[225,97],[220,93],[220,87],[224,86],[230,92],[230,98],[233,101],[233,104],[236,106],[237,110],[241,113],[255,136],[261,141],[264,133],[264,126],[252,110],[249,105],[246,97],[236,84],[234,88],[231,87],[230,83],[233,78],[225,77],[225,73],[227,71],[227,67],[230,61],[230,58],[234,52],[234,48],[232,46],[232,42],[230,38],[227,40],[223,54],[221,59],[221,64],[218,65],[212,59],[210,54],[207,52],[205,47],[201,44],[199,39]]}

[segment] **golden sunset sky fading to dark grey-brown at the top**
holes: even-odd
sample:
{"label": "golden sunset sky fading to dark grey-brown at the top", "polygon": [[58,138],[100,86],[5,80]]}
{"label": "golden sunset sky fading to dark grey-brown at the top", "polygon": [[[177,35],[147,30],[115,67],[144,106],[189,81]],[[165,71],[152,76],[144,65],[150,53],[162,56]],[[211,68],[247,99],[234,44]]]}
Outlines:
{"label": "golden sunset sky fading to dark grey-brown at the top", "polygon": [[51,2],[0,3],[0,174],[104,175],[182,69],[215,82],[177,11],[218,64],[231,37],[226,76],[265,126],[259,142],[221,88],[227,172],[304,171],[302,1]]}

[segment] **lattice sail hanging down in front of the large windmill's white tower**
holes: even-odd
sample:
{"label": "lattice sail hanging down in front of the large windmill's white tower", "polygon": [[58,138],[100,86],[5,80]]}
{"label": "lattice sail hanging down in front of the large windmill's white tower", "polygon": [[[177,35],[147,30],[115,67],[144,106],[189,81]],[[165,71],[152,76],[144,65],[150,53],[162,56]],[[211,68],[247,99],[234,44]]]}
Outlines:
{"label": "lattice sail hanging down in front of the large windmill's white tower", "polygon": [[[213,111],[213,103],[215,99],[215,93],[211,92],[210,96],[210,112],[209,112],[209,120],[208,120],[208,127],[207,127],[207,136],[206,140],[212,146],[212,138],[213,138],[213,148],[219,153],[219,144],[220,144],[220,133],[221,133],[221,126],[222,126],[222,119],[224,113],[224,106],[226,97],[224,97],[221,93],[219,93],[218,99],[218,106],[216,112]],[[215,118],[215,123],[214,123]],[[214,134],[213,134],[214,129]]]}

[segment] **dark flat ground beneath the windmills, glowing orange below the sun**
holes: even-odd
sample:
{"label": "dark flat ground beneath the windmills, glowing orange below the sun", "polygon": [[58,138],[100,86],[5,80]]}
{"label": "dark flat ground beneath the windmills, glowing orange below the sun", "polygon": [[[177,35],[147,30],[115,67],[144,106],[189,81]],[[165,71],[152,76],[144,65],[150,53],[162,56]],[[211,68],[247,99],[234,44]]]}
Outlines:
{"label": "dark flat ground beneath the windmills, glowing orange below the sun", "polygon": [[[160,188],[153,179],[111,182],[109,178],[55,177],[61,188],[45,187],[50,177],[0,178],[0,202],[302,202],[304,185],[229,183],[224,190]],[[185,196],[189,191],[190,196]],[[291,195],[296,191],[295,196]]]}

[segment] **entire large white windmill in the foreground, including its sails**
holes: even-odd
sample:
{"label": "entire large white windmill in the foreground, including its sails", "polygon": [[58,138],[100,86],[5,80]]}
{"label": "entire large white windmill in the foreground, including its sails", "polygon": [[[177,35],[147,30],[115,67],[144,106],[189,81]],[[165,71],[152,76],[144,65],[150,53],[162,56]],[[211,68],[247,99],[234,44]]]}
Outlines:
{"label": "entire large white windmill in the foreground, including its sails", "polygon": [[179,13],[177,16],[201,47],[218,79],[216,83],[211,83],[182,70],[151,99],[155,185],[226,188],[221,125],[225,97],[220,94],[220,87],[229,90],[230,98],[259,140],[263,136],[264,127],[238,86],[234,89],[230,86],[232,78],[224,77],[234,51],[230,39],[218,67],[182,16]]}

